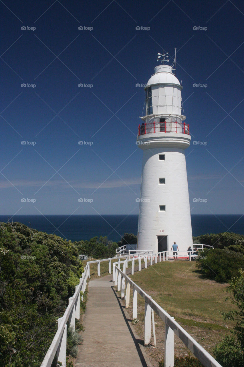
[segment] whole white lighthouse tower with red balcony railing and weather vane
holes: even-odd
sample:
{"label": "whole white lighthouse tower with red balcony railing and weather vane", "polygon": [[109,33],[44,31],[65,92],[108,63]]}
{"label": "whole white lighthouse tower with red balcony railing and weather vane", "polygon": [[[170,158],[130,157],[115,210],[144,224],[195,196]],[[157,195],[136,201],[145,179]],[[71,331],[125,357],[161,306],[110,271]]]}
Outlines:
{"label": "whole white lighthouse tower with red balcony railing and weather vane", "polygon": [[143,149],[137,249],[166,251],[175,241],[186,251],[192,226],[184,150],[191,137],[181,114],[182,86],[172,73],[175,61],[164,65],[167,54],[158,55],[162,64],[145,87],[146,114],[137,135]]}

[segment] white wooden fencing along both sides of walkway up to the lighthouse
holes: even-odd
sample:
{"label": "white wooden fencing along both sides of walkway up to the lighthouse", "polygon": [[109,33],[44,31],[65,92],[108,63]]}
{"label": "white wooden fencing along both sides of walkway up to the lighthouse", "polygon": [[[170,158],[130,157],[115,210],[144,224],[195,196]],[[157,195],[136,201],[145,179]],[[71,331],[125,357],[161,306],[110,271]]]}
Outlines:
{"label": "white wooden fencing along both sides of walkway up to the lighthouse", "polygon": [[[197,245],[197,246],[202,246],[202,245]],[[167,331],[166,339],[165,339],[166,344],[167,344],[167,353],[165,352],[165,361],[169,360],[171,363],[171,366],[174,365],[174,362],[172,364],[170,355],[172,353],[172,348],[174,350],[174,346],[172,347],[172,340],[173,340],[174,333],[176,333],[184,343],[187,340],[188,344],[186,343],[185,344],[186,346],[189,345],[188,348],[191,350],[191,352],[194,355],[196,355],[195,354],[196,350],[197,351],[199,350],[199,352],[197,352],[199,356],[197,354],[196,357],[202,363],[203,363],[202,360],[205,360],[204,359],[205,355],[210,357],[210,359],[209,358],[206,359],[207,362],[205,364],[203,363],[205,367],[221,367],[219,363],[217,363],[189,334],[186,333],[186,331],[183,328],[181,328],[180,325],[178,325],[167,314],[167,312],[165,312],[158,304],[156,304],[156,302],[153,299],[151,299],[151,297],[149,297],[145,292],[143,292],[141,288],[139,288],[135,283],[132,282],[132,280],[130,280],[129,277],[126,276],[125,272],[126,272],[126,268],[128,268],[129,262],[131,262],[132,264],[131,272],[133,274],[135,262],[138,262],[138,268],[140,271],[141,270],[141,259],[143,259],[143,261],[145,262],[145,268],[147,268],[148,264],[152,265],[154,260],[155,260],[155,263],[157,263],[158,258],[159,258],[159,261],[165,261],[170,258],[171,253],[173,254],[173,251],[163,251],[163,252],[158,252],[156,254],[153,254],[152,252],[153,251],[147,250],[147,251],[141,251],[133,255],[132,254],[127,254],[127,255],[118,254],[119,257],[88,261],[86,263],[84,273],[82,273],[82,278],[80,278],[80,283],[75,287],[75,293],[73,297],[69,298],[69,305],[67,306],[64,312],[64,315],[58,319],[58,330],[52,340],[52,343],[40,367],[51,367],[52,361],[56,353],[57,353],[57,361],[62,362],[62,366],[66,367],[67,322],[71,326],[74,327],[75,319],[80,320],[80,292],[82,292],[81,299],[83,301],[83,294],[86,290],[87,278],[90,277],[90,264],[97,264],[97,275],[101,276],[101,272],[100,272],[101,262],[108,261],[108,272],[111,274],[111,262],[112,260],[116,260],[116,259],[118,259],[118,261],[113,263],[113,279],[114,279],[115,286],[118,286],[118,290],[121,290],[122,298],[125,295],[125,279],[126,279],[127,281],[127,287],[126,287],[126,295],[127,295],[126,305],[127,307],[129,305],[128,302],[129,302],[130,284],[133,287],[133,318],[137,317],[137,292],[139,292],[139,294],[141,294],[142,297],[145,298],[145,338],[144,338],[145,344],[149,344],[149,340],[151,337],[151,317],[154,317],[152,313],[154,310],[160,317],[162,316],[161,317],[162,320],[167,321],[167,322],[165,321],[165,323],[167,324],[166,329],[165,329]],[[186,251],[178,251],[178,253],[180,252],[182,252],[181,254],[182,257],[188,256]],[[191,256],[195,256],[195,255],[191,255]],[[190,256],[190,261],[191,261],[191,256]],[[125,259],[125,260],[122,260],[122,259]],[[123,271],[120,269],[121,264],[123,264]],[[170,321],[166,319],[165,315],[167,315]],[[149,326],[149,323],[150,323],[150,326]],[[177,328],[175,328],[175,325],[177,325]],[[154,321],[153,321],[153,328],[154,328]],[[184,333],[182,333],[182,331],[184,331]],[[155,330],[154,330],[154,335],[155,335]],[[187,335],[187,338],[188,337],[189,338],[185,339],[184,335]],[[156,343],[155,338],[154,340]],[[199,346],[200,349],[195,350],[194,349],[195,345],[197,345],[197,348]],[[195,350],[195,352],[193,352],[193,350]],[[212,361],[214,361],[214,363]],[[167,364],[165,364],[165,367],[170,367],[170,363],[167,362]]]}

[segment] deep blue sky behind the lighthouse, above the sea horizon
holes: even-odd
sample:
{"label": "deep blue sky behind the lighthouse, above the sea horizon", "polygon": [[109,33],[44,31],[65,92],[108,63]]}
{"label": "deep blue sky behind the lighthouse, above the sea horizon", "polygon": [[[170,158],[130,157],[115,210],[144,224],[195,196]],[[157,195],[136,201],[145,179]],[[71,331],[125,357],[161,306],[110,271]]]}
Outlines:
{"label": "deep blue sky behind the lighthouse, above the sea horizon", "polygon": [[174,48],[197,142],[185,151],[191,214],[243,214],[242,1],[0,8],[0,214],[138,214],[136,84],[154,73],[157,52],[173,57]]}

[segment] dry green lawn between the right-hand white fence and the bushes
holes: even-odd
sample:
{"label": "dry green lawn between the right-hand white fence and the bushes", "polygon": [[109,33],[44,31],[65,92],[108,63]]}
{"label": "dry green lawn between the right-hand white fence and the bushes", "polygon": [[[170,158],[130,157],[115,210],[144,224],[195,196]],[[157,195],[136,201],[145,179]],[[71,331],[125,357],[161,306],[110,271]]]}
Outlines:
{"label": "dry green lawn between the right-hand white fence and the bushes", "polygon": [[197,318],[195,321],[201,323],[223,325],[221,311],[233,308],[229,301],[225,302],[228,284],[202,279],[195,262],[160,262],[130,278],[176,320],[186,316],[185,319]]}

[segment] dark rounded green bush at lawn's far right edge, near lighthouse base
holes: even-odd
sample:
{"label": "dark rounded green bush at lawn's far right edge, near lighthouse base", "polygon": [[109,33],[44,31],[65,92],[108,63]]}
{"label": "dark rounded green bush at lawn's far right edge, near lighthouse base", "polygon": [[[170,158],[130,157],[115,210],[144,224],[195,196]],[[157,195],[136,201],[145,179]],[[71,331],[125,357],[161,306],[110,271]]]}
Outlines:
{"label": "dark rounded green bush at lawn's far right edge, near lighthouse base", "polygon": [[239,274],[240,268],[244,269],[244,256],[228,248],[204,249],[196,264],[206,277],[226,283]]}

